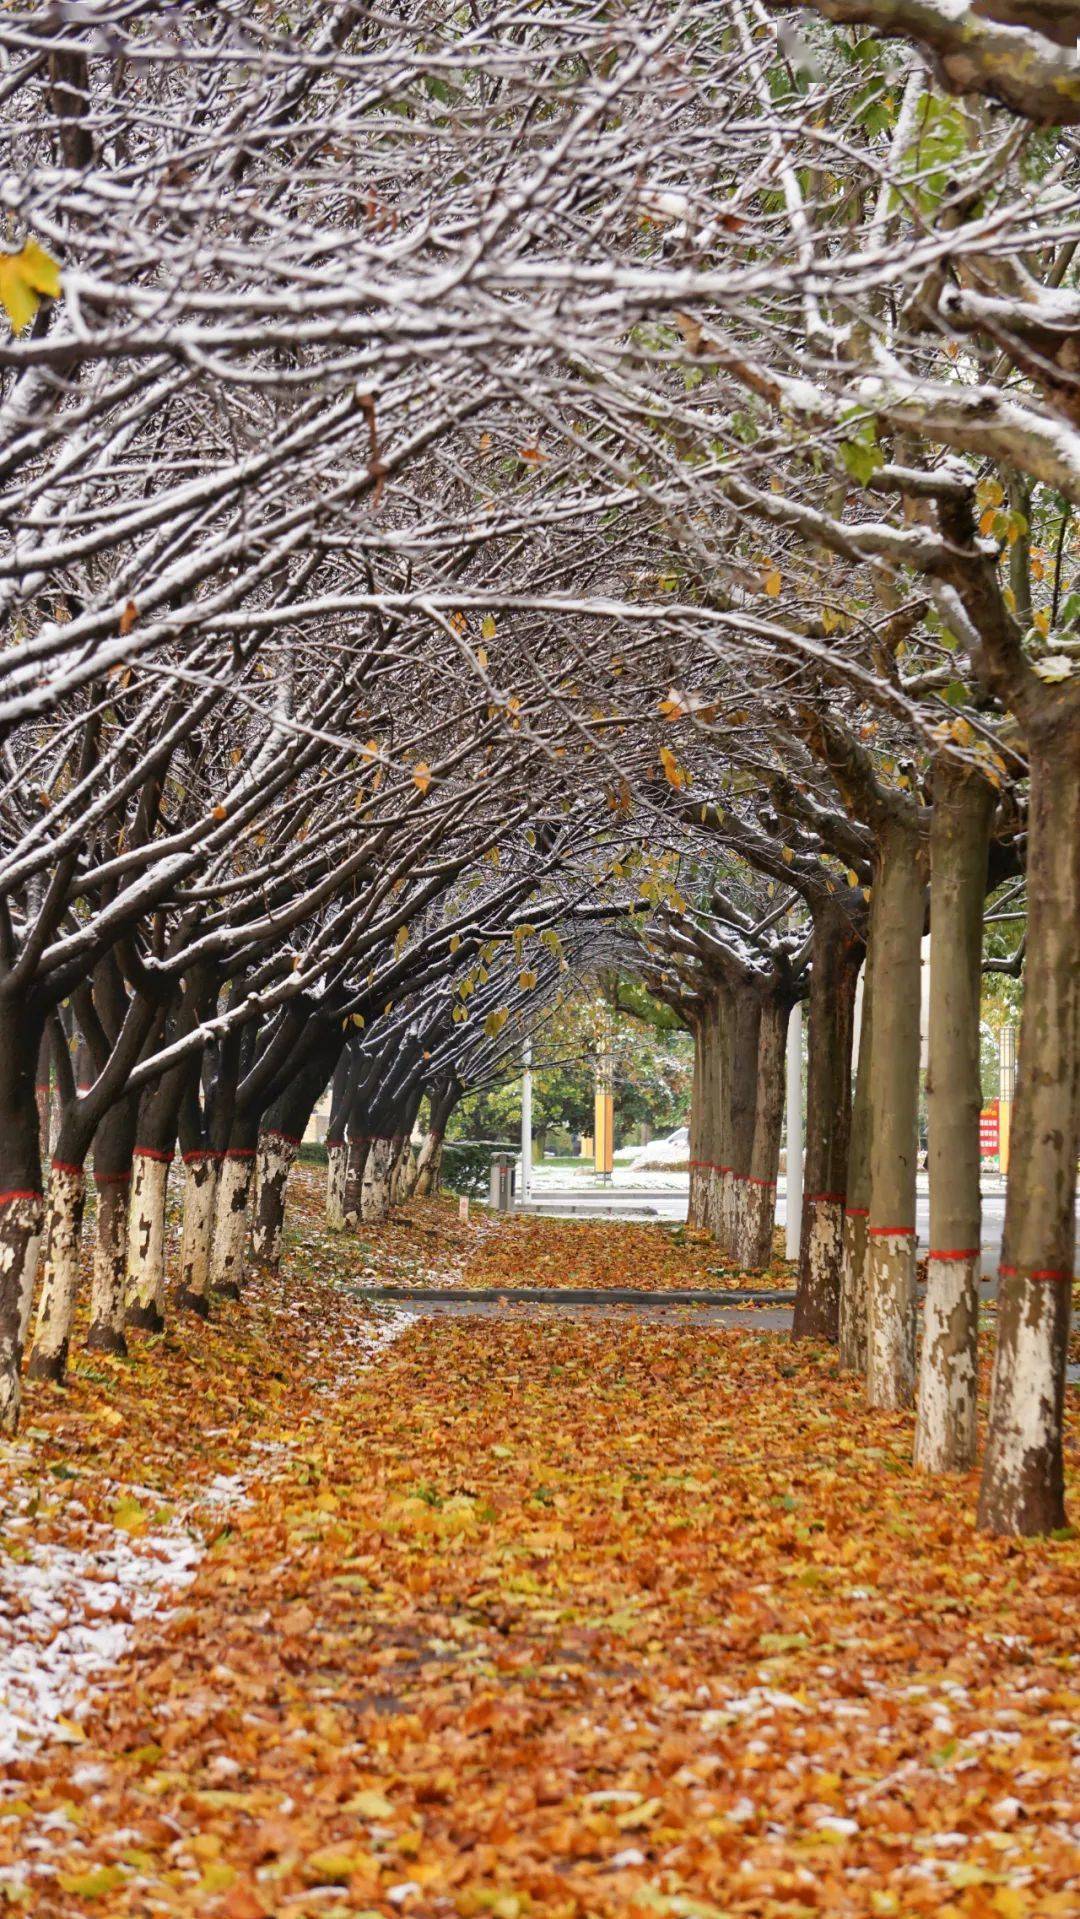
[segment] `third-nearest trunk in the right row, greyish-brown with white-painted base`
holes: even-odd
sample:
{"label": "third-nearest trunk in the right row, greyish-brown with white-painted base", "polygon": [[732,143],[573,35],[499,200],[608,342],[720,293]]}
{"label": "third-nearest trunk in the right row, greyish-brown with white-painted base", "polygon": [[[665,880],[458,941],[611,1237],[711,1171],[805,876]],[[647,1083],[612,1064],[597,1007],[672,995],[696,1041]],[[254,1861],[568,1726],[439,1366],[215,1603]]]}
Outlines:
{"label": "third-nearest trunk in the right row, greyish-brown with white-painted base", "polygon": [[915,1165],[919,1148],[919,961],[923,944],[919,837],[890,819],[875,869],[871,1078],[871,1213],[867,1397],[915,1397]]}

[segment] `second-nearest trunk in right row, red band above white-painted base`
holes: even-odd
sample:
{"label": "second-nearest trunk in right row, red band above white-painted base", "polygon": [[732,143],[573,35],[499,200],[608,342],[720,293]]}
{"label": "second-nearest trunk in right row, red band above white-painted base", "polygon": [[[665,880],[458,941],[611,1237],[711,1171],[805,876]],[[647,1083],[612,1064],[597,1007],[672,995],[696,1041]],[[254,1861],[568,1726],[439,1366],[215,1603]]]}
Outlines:
{"label": "second-nearest trunk in right row, red band above white-painted base", "polygon": [[976,1449],[978,1006],[994,789],[955,760],[934,766],[930,825],[930,1257],[915,1464],[967,1472]]}

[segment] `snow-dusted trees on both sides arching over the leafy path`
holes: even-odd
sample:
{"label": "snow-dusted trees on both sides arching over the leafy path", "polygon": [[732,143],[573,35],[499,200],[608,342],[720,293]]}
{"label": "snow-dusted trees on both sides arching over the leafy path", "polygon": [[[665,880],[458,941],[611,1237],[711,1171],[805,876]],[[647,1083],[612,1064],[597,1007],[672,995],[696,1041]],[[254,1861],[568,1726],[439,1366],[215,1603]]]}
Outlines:
{"label": "snow-dusted trees on both sides arching over the leafy path", "polygon": [[798,1330],[907,1403],[928,923],[919,1455],[969,1462],[992,898],[1026,940],[982,1520],[1061,1522],[1074,54],[1022,0],[963,50],[953,15],[0,23],[6,1424],[42,1232],[63,1368],[90,1157],[115,1343],[161,1316],[176,1144],[205,1307],[259,1149],[272,1255],[320,1086],[332,1207],[378,1211],[568,956],[689,1021],[694,1217],[744,1263],[810,996]]}

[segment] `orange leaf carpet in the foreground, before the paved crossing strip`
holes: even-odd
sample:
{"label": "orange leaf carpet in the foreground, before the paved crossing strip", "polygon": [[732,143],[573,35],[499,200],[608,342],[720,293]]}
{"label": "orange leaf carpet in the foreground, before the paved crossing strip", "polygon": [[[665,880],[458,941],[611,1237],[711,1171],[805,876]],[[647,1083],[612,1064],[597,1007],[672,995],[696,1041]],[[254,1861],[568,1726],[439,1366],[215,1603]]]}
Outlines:
{"label": "orange leaf carpet in the foreground, before the paved crossing strip", "polygon": [[8,1551],[203,1556],[0,1771],[15,1911],[1074,1911],[1074,1539],[976,1535],[823,1349],[510,1311],[372,1355],[307,1267],[31,1393]]}

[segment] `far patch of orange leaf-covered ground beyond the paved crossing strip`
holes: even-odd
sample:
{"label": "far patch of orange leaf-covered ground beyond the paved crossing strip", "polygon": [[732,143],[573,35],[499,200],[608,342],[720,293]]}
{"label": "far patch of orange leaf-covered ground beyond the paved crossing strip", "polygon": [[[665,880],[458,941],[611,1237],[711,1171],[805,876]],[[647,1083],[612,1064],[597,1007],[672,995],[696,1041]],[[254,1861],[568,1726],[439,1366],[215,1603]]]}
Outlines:
{"label": "far patch of orange leaf-covered ground beyond the paved crossing strip", "polygon": [[[326,1174],[293,1171],[290,1232],[293,1244],[338,1270],[338,1247],[322,1232]],[[472,1207],[458,1219],[457,1199],[412,1201],[386,1226],[359,1234],[355,1272],[368,1286],[551,1286],[633,1288],[635,1291],[721,1291],[733,1286],[792,1286],[792,1268],[775,1259],[767,1272],[746,1274],[723,1261],[704,1234],[627,1220],[564,1220],[543,1215],[489,1215]]]}

